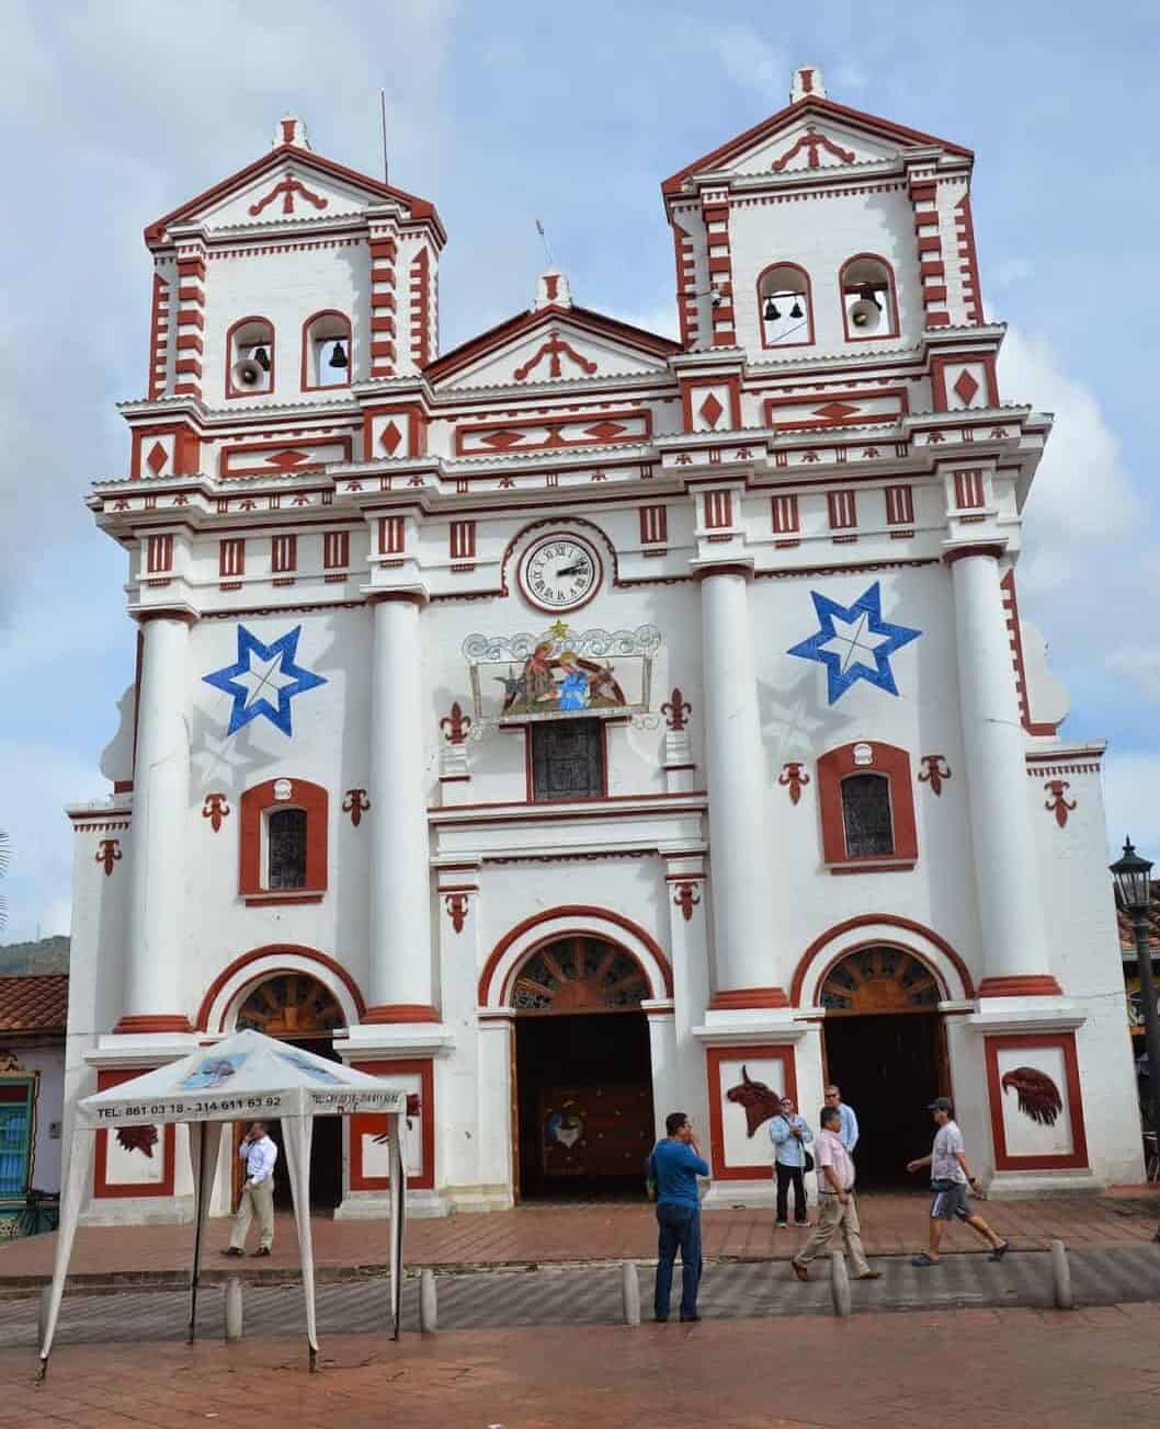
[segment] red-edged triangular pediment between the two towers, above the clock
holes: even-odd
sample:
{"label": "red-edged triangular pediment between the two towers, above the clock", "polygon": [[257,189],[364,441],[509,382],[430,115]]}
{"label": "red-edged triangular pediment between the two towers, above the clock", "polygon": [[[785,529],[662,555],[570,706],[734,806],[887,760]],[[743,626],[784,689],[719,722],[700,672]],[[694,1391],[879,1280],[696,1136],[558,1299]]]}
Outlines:
{"label": "red-edged triangular pediment between the two towers, above the clock", "polygon": [[425,369],[435,387],[509,387],[662,373],[681,344],[585,307],[549,304],[492,327]]}

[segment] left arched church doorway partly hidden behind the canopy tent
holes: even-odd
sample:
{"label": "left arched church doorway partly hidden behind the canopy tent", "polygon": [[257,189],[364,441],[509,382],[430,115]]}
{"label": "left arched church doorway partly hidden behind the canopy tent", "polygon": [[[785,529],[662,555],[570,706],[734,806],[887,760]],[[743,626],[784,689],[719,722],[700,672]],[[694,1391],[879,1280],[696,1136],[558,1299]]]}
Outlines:
{"label": "left arched church doorway partly hidden behind the canopy tent", "polygon": [[[338,1062],[333,1033],[346,1026],[338,999],[316,977],[303,972],[280,972],[256,983],[242,999],[235,1019],[237,1032],[249,1027],[267,1037],[293,1042],[316,1056]],[[342,1200],[342,1117],[316,1116],[310,1147],[310,1208],[333,1210]],[[270,1122],[269,1133],[277,1143],[280,1169],[275,1172],[275,1206],[290,1209],[290,1182],[282,1157],[282,1127]],[[245,1123],[235,1123],[235,1150]],[[233,1198],[242,1189],[243,1166],[233,1162]]]}

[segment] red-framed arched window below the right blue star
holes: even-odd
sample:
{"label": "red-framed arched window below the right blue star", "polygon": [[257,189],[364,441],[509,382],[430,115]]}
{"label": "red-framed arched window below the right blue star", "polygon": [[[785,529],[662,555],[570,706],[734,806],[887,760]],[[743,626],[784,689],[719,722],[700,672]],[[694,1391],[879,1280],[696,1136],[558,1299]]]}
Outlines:
{"label": "red-framed arched window below the right blue star", "polygon": [[822,857],[831,873],[884,873],[918,859],[910,755],[858,740],[818,760]]}

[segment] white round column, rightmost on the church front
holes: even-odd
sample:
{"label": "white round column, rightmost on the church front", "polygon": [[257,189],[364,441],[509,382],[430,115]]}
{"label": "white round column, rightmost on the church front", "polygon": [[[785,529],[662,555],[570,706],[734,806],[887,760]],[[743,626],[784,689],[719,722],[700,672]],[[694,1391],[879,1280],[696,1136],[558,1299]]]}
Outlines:
{"label": "white round column, rightmost on the church front", "polygon": [[950,552],[947,559],[954,586],[958,699],[987,975],[980,993],[1058,992],[1047,976],[1036,836],[1027,803],[1026,737],[998,587],[998,547]]}

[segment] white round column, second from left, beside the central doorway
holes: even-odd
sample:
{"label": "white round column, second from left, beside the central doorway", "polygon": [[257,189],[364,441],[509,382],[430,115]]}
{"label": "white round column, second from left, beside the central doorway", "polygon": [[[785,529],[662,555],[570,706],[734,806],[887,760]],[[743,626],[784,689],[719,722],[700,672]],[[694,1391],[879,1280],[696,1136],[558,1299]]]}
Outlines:
{"label": "white round column, second from left, beside the central doorway", "polygon": [[379,596],[370,674],[370,1002],[363,1022],[436,1022],[423,783],[421,597]]}

